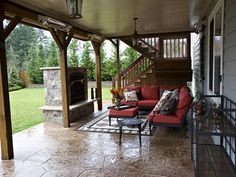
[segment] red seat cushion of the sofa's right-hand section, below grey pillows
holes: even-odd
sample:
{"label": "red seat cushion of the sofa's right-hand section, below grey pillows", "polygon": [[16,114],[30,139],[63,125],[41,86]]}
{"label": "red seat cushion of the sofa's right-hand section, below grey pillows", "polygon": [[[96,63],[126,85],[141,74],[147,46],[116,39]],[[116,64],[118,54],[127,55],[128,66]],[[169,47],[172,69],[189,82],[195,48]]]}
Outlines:
{"label": "red seat cushion of the sofa's right-hand section, below grey pillows", "polygon": [[147,119],[152,121],[154,124],[163,123],[163,124],[180,124],[181,119],[179,119],[176,115],[164,115],[164,114],[154,114],[152,111]]}

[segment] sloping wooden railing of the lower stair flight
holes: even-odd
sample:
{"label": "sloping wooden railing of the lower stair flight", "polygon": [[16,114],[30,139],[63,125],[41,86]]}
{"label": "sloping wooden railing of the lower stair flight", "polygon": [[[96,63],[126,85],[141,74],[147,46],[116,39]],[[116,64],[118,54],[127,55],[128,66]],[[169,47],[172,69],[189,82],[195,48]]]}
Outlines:
{"label": "sloping wooden railing of the lower stair flight", "polygon": [[[143,55],[140,56],[120,73],[121,86],[124,87],[126,85],[133,84],[133,82],[137,80],[139,76],[144,74],[152,66],[153,62],[150,59],[144,57]],[[116,76],[112,79],[112,88],[117,87],[117,85],[118,77]]]}

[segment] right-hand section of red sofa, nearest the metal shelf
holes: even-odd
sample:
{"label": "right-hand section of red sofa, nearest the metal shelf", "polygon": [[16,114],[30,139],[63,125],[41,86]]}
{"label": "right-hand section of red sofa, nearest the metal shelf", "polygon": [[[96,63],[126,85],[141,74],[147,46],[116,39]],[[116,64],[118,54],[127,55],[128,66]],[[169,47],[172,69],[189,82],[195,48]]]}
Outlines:
{"label": "right-hand section of red sofa, nearest the metal shelf", "polygon": [[153,125],[167,126],[167,127],[181,127],[184,122],[184,118],[188,113],[193,98],[187,87],[181,87],[179,89],[179,99],[174,114],[160,114],[155,113],[154,110],[148,115],[150,130]]}

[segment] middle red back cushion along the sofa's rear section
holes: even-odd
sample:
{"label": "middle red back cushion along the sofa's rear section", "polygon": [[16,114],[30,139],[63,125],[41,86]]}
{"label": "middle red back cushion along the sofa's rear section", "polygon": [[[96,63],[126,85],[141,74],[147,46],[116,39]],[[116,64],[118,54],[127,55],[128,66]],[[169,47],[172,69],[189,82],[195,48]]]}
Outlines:
{"label": "middle red back cushion along the sofa's rear section", "polygon": [[141,93],[144,100],[159,100],[159,87],[158,86],[141,86]]}

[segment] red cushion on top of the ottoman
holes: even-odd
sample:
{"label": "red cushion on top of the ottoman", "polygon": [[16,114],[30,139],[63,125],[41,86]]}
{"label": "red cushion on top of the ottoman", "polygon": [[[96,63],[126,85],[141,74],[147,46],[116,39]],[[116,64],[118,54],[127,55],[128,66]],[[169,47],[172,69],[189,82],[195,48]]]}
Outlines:
{"label": "red cushion on top of the ottoman", "polygon": [[109,116],[134,117],[136,114],[138,114],[138,111],[139,109],[137,107],[122,109],[119,111],[115,109],[109,109]]}

